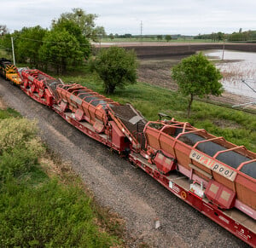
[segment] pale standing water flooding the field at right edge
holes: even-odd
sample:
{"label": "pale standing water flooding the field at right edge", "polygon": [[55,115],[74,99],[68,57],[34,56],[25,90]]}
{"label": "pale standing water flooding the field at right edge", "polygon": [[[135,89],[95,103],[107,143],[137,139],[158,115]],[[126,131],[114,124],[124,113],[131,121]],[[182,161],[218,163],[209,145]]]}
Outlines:
{"label": "pale standing water flooding the field at right edge", "polygon": [[[223,58],[223,50],[205,51],[204,54],[211,60]],[[256,53],[224,50],[224,61],[218,62],[216,66],[223,74],[221,83],[226,91],[256,98]],[[242,83],[242,80],[253,89]]]}

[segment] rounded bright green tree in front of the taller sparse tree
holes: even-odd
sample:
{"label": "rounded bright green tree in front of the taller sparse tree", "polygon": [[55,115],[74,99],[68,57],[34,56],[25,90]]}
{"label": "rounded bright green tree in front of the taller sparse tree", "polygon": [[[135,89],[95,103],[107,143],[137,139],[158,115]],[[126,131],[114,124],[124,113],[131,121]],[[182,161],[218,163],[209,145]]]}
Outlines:
{"label": "rounded bright green tree in front of the taller sparse tree", "polygon": [[73,65],[84,58],[78,39],[66,30],[52,30],[44,37],[44,44],[39,49],[40,58],[55,67],[57,73],[66,72],[68,65]]}

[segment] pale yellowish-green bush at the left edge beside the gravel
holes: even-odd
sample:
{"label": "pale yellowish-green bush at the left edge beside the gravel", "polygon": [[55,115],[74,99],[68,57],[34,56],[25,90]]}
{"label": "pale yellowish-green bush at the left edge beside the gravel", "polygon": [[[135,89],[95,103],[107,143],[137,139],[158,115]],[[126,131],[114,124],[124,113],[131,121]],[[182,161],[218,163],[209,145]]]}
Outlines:
{"label": "pale yellowish-green bush at the left edge beside the gravel", "polygon": [[32,170],[38,164],[38,156],[44,154],[44,147],[35,137],[35,123],[25,118],[0,120],[0,180],[18,177]]}

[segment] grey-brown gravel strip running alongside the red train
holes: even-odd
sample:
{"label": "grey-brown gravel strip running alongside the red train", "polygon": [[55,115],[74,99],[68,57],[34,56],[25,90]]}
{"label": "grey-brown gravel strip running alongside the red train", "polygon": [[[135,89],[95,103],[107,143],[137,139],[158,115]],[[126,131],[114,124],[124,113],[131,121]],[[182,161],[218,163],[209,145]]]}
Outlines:
{"label": "grey-brown gravel strip running alongside the red train", "polygon": [[[0,79],[0,97],[23,116],[37,119],[40,136],[72,162],[97,201],[125,219],[129,247],[247,247],[107,147],[67,124],[48,107]],[[154,219],[160,228],[154,229]]]}

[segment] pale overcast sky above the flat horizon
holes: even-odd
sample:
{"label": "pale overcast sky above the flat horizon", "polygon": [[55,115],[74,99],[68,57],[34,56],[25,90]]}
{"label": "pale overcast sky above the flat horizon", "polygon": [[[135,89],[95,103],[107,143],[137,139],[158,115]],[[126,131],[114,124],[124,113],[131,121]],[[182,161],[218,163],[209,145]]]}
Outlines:
{"label": "pale overcast sky above the flat horizon", "polygon": [[0,24],[49,27],[61,13],[98,14],[109,33],[186,34],[256,30],[256,0],[0,0]]}

